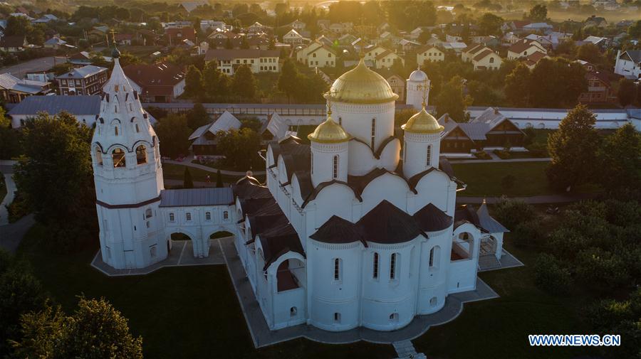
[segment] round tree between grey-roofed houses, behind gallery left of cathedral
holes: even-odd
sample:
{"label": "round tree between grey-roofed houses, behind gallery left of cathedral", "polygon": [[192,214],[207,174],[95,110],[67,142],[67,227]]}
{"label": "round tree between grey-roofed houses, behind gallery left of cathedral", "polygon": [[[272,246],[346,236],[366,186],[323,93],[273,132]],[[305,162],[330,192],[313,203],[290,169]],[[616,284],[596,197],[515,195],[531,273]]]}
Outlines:
{"label": "round tree between grey-roofed houses, behind gallery left of cathedral", "polygon": [[225,156],[225,164],[239,171],[260,166],[258,151],[261,149],[261,136],[254,130],[243,128],[217,133],[217,149]]}

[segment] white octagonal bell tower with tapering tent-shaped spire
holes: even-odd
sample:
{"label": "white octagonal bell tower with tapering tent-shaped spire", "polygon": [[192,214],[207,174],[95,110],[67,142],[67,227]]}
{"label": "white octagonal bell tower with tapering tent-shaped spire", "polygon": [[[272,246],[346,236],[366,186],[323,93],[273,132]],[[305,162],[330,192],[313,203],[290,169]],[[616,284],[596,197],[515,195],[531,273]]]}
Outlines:
{"label": "white octagonal bell tower with tapering tent-shaped spire", "polygon": [[142,268],[167,257],[164,183],[158,138],[119,57],[114,45],[91,146],[100,250],[111,267]]}

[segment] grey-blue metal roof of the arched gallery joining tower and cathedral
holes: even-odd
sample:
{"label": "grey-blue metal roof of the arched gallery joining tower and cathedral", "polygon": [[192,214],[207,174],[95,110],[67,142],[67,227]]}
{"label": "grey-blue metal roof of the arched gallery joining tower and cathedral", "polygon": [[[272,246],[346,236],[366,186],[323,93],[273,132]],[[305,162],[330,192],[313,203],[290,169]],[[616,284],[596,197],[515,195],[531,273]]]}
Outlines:
{"label": "grey-blue metal roof of the arched gallery joining tower and cathedral", "polygon": [[160,191],[160,207],[193,207],[199,205],[234,204],[230,187],[185,188]]}

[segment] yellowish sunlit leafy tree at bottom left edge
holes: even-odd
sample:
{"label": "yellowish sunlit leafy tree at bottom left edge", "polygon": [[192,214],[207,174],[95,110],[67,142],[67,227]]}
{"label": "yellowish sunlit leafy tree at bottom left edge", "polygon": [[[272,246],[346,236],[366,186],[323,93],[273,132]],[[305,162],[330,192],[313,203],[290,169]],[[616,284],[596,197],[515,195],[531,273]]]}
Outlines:
{"label": "yellowish sunlit leafy tree at bottom left edge", "polygon": [[[71,316],[48,308],[24,316],[16,352],[24,358],[140,358],[127,318],[105,299],[81,298]],[[46,353],[46,355],[42,355]]]}

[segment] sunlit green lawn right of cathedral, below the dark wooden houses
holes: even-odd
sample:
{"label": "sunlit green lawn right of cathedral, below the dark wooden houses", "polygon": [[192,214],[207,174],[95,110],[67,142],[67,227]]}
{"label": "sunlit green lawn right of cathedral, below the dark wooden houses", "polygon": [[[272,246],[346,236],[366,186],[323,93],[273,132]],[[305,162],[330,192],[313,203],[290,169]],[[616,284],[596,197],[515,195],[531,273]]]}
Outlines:
{"label": "sunlit green lawn right of cathedral, below the dark wooden houses", "polygon": [[[548,187],[545,173],[547,166],[548,162],[452,164],[454,175],[467,183],[467,189],[459,192],[462,196],[527,196],[554,193]],[[516,181],[512,188],[503,188],[501,179],[508,175],[514,176]]]}

